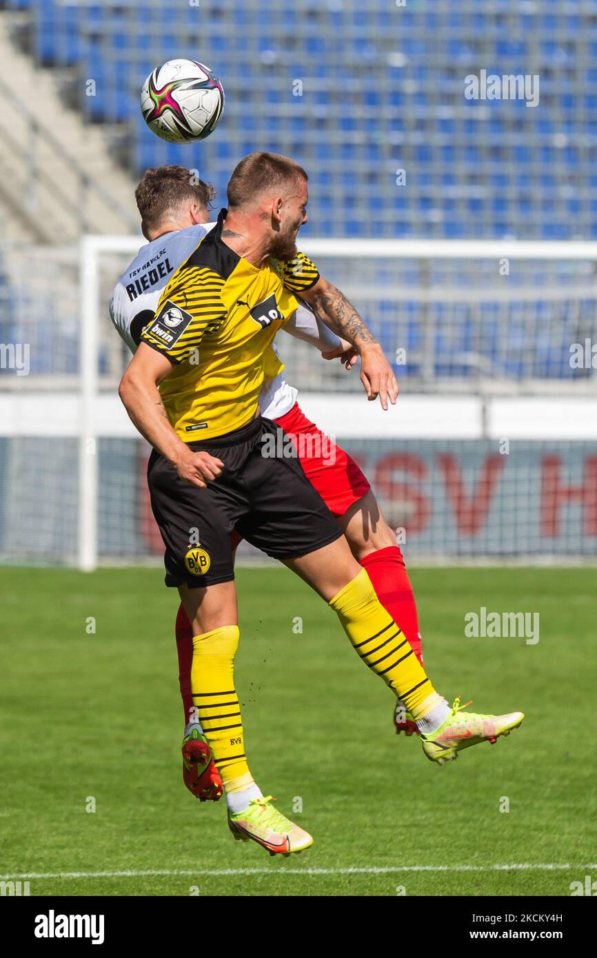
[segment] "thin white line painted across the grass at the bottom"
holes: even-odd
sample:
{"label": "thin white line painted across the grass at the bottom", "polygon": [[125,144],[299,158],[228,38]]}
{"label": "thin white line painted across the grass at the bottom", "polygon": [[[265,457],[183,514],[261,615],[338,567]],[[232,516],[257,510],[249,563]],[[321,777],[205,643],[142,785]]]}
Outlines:
{"label": "thin white line painted across the grass at the bottom", "polygon": [[24,872],[14,875],[0,875],[0,881],[22,880],[24,878],[148,878],[163,877],[209,877],[228,878],[235,875],[394,875],[400,872],[556,872],[588,871],[597,869],[597,864],[525,864],[510,865],[396,865],[374,866],[368,868],[212,868],[212,869],[148,869],[145,871],[122,872]]}

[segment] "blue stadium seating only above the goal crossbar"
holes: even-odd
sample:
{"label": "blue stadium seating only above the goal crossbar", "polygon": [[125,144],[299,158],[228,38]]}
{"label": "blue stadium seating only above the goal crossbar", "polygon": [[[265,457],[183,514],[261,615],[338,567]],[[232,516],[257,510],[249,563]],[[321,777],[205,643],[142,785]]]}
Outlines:
{"label": "blue stadium seating only above the goal crossbar", "polygon": [[[228,100],[189,165],[221,190],[257,145],[295,156],[310,170],[319,236],[597,237],[594,2],[5,6],[21,12],[31,56],[56,68],[135,173],[180,160],[143,124],[141,81],[193,57],[217,69]],[[465,77],[480,69],[540,75],[542,108],[467,101]]]}

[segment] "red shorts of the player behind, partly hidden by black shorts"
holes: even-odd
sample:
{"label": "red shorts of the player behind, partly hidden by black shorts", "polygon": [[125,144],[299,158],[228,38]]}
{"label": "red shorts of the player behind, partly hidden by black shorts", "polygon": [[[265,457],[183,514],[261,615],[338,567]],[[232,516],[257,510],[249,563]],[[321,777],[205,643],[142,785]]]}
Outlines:
{"label": "red shorts of the player behind, partly hidden by black shorts", "polygon": [[344,515],[371,489],[355,460],[307,419],[298,402],[275,422],[290,435],[305,475],[333,515]]}

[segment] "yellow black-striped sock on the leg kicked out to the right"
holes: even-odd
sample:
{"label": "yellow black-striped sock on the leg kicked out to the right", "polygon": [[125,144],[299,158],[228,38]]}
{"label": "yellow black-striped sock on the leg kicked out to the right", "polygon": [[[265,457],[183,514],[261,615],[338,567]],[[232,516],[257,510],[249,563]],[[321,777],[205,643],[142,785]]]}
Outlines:
{"label": "yellow black-striped sock on the leg kicked out to the right", "polygon": [[[423,718],[437,700],[435,690],[404,633],[379,602],[365,569],[329,604],[365,665],[402,699],[415,719]],[[429,704],[425,701],[422,709],[425,699]]]}

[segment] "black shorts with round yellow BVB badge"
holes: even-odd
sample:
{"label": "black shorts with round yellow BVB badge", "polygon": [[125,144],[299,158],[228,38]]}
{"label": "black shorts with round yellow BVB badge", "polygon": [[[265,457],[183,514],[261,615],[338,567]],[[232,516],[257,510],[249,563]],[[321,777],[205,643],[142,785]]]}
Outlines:
{"label": "black shorts with round yellow BVB badge", "polygon": [[[166,546],[166,584],[191,587],[234,579],[233,529],[273,559],[296,559],[342,535],[297,458],[267,456],[281,443],[275,422],[258,418],[218,439],[189,443],[224,464],[218,479],[198,489],[152,451],[151,509]],[[278,442],[276,439],[278,438]]]}

